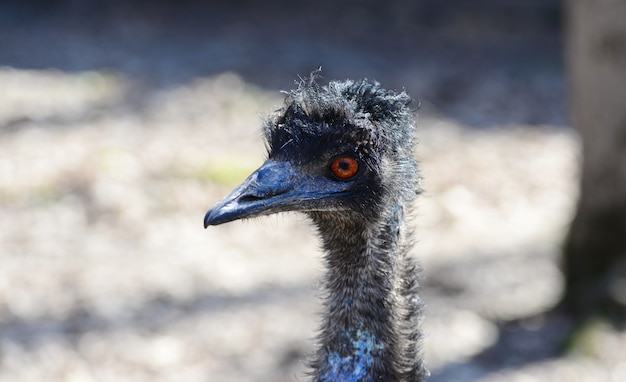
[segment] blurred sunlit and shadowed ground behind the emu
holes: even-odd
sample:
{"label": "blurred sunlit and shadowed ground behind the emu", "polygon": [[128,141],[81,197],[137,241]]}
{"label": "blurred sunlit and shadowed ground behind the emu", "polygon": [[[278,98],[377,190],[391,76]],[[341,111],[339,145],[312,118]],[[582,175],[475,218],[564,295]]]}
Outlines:
{"label": "blurred sunlit and shadowed ground behind the emu", "polygon": [[422,102],[431,380],[626,380],[623,333],[592,326],[558,356],[570,324],[538,316],[580,145],[556,5],[377,3],[0,7],[0,381],[305,380],[313,230],[202,218],[262,162],[278,90],[319,65]]}

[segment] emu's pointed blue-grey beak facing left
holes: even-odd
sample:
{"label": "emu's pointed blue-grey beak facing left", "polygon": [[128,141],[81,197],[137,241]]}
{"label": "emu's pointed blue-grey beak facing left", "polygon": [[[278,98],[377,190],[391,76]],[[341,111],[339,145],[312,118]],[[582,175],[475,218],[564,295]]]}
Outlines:
{"label": "emu's pointed blue-grey beak facing left", "polygon": [[[311,182],[289,162],[266,161],[204,216],[204,228],[233,220],[298,209]],[[317,193],[315,193],[317,194]]]}

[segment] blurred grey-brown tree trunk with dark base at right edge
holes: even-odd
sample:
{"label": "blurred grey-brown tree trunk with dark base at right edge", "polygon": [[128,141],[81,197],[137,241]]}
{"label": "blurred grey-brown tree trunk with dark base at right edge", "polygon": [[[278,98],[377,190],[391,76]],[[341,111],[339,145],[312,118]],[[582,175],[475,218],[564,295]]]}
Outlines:
{"label": "blurred grey-brown tree trunk with dark base at right edge", "polygon": [[570,117],[583,145],[561,302],[577,318],[626,317],[626,0],[566,0]]}

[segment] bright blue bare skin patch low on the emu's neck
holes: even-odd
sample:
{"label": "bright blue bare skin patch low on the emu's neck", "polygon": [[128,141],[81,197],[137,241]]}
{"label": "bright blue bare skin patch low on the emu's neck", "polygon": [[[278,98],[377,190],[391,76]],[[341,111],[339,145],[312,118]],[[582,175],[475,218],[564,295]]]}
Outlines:
{"label": "bright blue bare skin patch low on the emu's neck", "polygon": [[367,330],[346,332],[347,344],[352,354],[342,357],[337,351],[328,354],[328,368],[322,374],[322,381],[373,382],[370,369],[374,362],[373,354],[383,348],[383,344]]}

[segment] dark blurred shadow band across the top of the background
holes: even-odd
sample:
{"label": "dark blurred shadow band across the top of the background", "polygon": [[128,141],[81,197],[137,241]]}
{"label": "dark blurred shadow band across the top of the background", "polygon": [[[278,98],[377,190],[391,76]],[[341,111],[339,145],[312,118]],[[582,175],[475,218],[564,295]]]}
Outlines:
{"label": "dark blurred shadow band across the top of the background", "polygon": [[[329,79],[367,77],[406,89],[468,126],[562,125],[559,5],[10,1],[0,6],[0,66],[112,70],[146,97],[226,71],[264,88],[290,89],[298,75],[322,66]],[[501,104],[476,105],[494,88]],[[530,112],[516,112],[529,102]],[[533,102],[553,103],[560,112],[532,113]]]}

